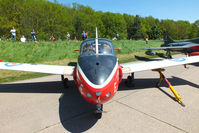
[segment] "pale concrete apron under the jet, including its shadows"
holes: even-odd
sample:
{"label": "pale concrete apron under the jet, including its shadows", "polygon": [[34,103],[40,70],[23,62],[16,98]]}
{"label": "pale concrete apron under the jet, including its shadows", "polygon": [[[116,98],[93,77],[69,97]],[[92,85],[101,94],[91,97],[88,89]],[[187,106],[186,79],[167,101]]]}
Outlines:
{"label": "pale concrete apron under the jet, including its shadows", "polygon": [[164,84],[155,87],[157,72],[144,71],[135,73],[133,88],[125,86],[124,78],[99,120],[72,80],[68,89],[57,75],[0,84],[0,133],[198,133],[198,66],[164,72],[185,107]]}

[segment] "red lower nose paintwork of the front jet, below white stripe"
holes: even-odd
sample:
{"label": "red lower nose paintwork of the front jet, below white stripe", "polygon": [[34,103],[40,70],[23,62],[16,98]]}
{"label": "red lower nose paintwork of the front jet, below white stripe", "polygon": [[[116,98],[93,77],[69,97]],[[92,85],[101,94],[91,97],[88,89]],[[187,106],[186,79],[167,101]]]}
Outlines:
{"label": "red lower nose paintwork of the front jet, below white stripe", "polygon": [[[77,68],[75,68],[73,72],[73,78],[76,85],[78,86],[80,94],[86,101],[92,104],[103,104],[109,101],[117,92],[119,83],[122,81],[122,76],[122,68],[119,65],[114,76],[107,85],[105,85],[103,88],[93,88],[83,79]],[[101,95],[96,96],[96,91],[101,91]],[[106,97],[106,94],[109,92],[110,96]],[[87,93],[91,95],[90,98],[87,96]]]}

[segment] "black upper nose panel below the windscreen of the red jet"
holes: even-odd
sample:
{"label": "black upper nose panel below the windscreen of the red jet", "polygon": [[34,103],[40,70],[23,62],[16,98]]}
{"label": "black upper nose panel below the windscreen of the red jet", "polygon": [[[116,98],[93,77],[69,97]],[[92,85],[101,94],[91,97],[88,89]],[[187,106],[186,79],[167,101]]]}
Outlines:
{"label": "black upper nose panel below the windscreen of the red jet", "polygon": [[94,55],[79,57],[78,63],[87,79],[95,85],[103,84],[116,65],[116,57]]}

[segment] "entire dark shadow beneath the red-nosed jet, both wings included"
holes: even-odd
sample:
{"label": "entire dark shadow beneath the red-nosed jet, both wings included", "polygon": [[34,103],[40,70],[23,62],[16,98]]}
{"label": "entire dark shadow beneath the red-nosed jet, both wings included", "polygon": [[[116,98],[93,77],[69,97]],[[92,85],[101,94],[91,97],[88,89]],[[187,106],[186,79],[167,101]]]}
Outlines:
{"label": "entire dark shadow beneath the red-nosed jet, both wings included", "polygon": [[[125,79],[123,79],[119,85],[119,91],[153,88],[158,80],[135,79],[135,87],[129,88],[125,86]],[[174,87],[187,84],[199,88],[199,85],[175,76],[168,80]],[[164,83],[162,85],[165,86]],[[68,89],[63,88],[61,81],[0,84],[0,93],[62,93],[62,96],[59,98],[59,117],[63,127],[69,132],[87,131],[98,121],[93,115],[95,105],[89,104],[81,97],[73,81],[69,81]],[[169,94],[167,96],[173,99],[173,96]]]}

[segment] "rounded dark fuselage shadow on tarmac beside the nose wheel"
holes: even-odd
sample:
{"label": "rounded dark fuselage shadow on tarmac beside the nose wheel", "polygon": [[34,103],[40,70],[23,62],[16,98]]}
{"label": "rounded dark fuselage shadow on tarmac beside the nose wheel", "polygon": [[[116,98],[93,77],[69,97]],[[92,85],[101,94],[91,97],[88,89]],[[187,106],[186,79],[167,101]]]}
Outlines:
{"label": "rounded dark fuselage shadow on tarmac beside the nose wheel", "polygon": [[69,132],[84,132],[95,125],[95,105],[85,101],[75,84],[59,99],[59,116],[63,127]]}

